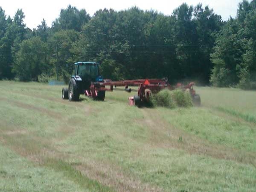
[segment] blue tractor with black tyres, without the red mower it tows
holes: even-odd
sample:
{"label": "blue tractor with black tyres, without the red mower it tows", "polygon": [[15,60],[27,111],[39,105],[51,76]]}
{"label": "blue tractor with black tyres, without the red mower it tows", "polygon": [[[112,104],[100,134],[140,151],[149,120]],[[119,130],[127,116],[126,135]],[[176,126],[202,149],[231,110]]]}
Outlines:
{"label": "blue tractor with black tyres, without the red mower it tows", "polygon": [[[70,101],[79,101],[80,94],[85,90],[90,90],[92,82],[103,82],[102,76],[99,75],[99,63],[96,62],[77,62],[75,70],[70,78],[68,88],[62,89],[62,99]],[[99,91],[95,99],[104,101],[105,90]]]}

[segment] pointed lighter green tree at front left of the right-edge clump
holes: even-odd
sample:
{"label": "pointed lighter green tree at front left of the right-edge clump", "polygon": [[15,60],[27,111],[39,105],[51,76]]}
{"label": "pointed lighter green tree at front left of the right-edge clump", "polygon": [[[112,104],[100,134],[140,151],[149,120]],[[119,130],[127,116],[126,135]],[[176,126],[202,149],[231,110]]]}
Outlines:
{"label": "pointed lighter green tree at front left of the right-edge clump", "polygon": [[233,86],[239,82],[237,69],[244,53],[244,41],[238,35],[239,27],[232,18],[221,30],[211,54],[214,64],[211,82],[218,87]]}

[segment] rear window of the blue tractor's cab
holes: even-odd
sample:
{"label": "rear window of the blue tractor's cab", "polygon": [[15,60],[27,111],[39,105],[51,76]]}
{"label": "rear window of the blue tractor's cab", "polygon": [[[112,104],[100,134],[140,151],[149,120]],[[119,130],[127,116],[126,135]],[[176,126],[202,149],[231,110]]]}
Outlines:
{"label": "rear window of the blue tractor's cab", "polygon": [[82,79],[94,79],[99,76],[98,65],[96,64],[82,64],[78,67],[77,75]]}

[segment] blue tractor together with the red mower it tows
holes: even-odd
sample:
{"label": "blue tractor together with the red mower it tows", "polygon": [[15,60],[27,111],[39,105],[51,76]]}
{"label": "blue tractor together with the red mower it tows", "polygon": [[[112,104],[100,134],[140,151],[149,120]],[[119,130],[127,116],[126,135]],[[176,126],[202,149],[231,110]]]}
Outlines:
{"label": "blue tractor together with the red mower it tows", "polygon": [[149,102],[151,94],[158,93],[166,88],[169,90],[181,89],[188,91],[194,104],[200,105],[201,99],[198,94],[195,94],[194,84],[194,82],[188,85],[178,83],[176,86],[171,86],[167,78],[111,81],[100,76],[99,63],[77,62],[75,63],[75,70],[71,76],[68,89],[62,89],[62,99],[78,101],[80,94],[84,94],[93,99],[104,101],[106,91],[113,91],[113,87],[123,86],[125,87],[124,90],[130,93],[132,89],[128,86],[138,86],[137,95],[128,98],[131,106],[141,106]]}

